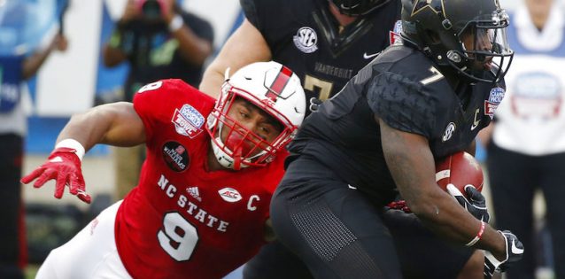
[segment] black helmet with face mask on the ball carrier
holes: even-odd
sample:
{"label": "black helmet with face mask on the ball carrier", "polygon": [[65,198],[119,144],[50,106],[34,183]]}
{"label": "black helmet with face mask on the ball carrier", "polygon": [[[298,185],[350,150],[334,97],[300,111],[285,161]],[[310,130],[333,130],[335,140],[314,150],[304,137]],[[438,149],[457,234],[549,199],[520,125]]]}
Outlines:
{"label": "black helmet with face mask on the ball carrier", "polygon": [[[499,0],[402,0],[402,38],[473,81],[499,81],[514,51]],[[488,73],[486,73],[488,72]]]}

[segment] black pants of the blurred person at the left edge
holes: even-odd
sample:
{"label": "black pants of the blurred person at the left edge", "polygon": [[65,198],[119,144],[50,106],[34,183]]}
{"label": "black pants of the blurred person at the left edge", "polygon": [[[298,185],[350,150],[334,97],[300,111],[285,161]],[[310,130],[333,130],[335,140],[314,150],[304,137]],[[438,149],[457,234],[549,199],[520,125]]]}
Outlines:
{"label": "black pants of the blurred person at the left edge", "polygon": [[19,268],[24,241],[21,176],[23,139],[13,134],[0,135],[0,278],[23,278]]}

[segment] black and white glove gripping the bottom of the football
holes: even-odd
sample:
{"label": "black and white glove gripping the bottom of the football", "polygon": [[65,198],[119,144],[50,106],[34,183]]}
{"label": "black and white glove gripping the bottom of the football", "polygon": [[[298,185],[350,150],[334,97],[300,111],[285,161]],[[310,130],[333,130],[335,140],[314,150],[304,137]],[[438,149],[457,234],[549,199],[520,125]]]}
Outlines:
{"label": "black and white glove gripping the bottom of the football", "polygon": [[461,194],[461,191],[453,184],[447,184],[446,189],[447,192],[452,195],[453,198],[457,199],[457,202],[465,207],[468,213],[471,213],[476,219],[484,221],[485,223],[491,220],[491,215],[489,215],[489,211],[486,208],[486,200],[483,194],[481,194],[479,190],[476,190],[475,186],[470,184],[465,186],[465,193],[468,199],[465,198],[463,194]]}

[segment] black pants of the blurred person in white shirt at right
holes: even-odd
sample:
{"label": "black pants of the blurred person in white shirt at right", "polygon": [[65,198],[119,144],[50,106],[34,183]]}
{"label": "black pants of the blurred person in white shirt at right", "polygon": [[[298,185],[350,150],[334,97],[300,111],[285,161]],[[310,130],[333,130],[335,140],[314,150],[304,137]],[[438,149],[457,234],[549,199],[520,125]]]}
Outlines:
{"label": "black pants of the blurred person in white shirt at right", "polygon": [[546,198],[546,221],[552,235],[555,278],[565,278],[565,153],[528,156],[491,143],[487,167],[496,227],[511,230],[524,245],[524,254],[507,271],[508,279],[535,278],[533,197]]}

